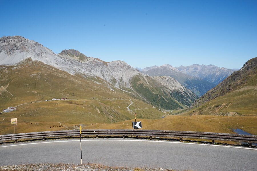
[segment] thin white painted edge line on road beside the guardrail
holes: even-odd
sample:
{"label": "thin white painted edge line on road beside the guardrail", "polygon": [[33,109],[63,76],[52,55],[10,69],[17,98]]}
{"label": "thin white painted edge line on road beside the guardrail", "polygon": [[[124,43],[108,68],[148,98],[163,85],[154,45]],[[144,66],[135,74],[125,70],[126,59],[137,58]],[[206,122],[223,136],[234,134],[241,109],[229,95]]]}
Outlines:
{"label": "thin white painted edge line on road beside the guardrail", "polygon": [[[41,142],[41,143],[27,143],[27,144],[16,144],[16,145],[8,145],[8,146],[0,146],[3,147],[11,147],[11,146],[21,146],[21,145],[32,145],[32,144],[44,144],[44,143],[63,143],[63,142],[75,142],[80,140],[68,140],[68,141],[49,141],[49,142]],[[175,144],[192,144],[192,145],[208,145],[208,146],[216,146],[216,147],[228,147],[228,148],[242,148],[247,150],[257,150],[257,148],[246,148],[246,147],[236,147],[236,146],[224,146],[224,145],[213,145],[213,144],[196,144],[196,143],[183,143],[183,142],[172,142],[172,141],[154,141],[154,140],[81,140],[81,141],[139,141],[139,142],[151,142],[151,143],[175,143]]]}

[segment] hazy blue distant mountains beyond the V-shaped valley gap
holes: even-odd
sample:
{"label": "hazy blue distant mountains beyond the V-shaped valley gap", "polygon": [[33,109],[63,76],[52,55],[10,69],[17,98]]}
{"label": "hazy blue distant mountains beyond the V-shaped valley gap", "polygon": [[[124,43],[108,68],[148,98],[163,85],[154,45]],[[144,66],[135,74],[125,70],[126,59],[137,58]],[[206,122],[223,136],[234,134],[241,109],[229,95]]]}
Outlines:
{"label": "hazy blue distant mountains beyond the V-shaped valley gap", "polygon": [[136,69],[149,76],[170,76],[175,78],[180,84],[193,91],[199,97],[236,71],[236,69],[198,64],[180,67],[172,67],[169,64],[165,64]]}

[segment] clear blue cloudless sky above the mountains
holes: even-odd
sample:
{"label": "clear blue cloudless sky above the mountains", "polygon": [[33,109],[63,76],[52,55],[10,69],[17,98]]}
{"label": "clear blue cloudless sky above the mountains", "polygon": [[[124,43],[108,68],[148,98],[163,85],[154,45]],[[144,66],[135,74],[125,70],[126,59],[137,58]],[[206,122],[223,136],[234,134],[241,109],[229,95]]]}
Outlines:
{"label": "clear blue cloudless sky above the mountains", "polygon": [[59,53],[75,49],[132,67],[213,64],[257,57],[257,1],[6,1],[0,37],[20,35]]}

